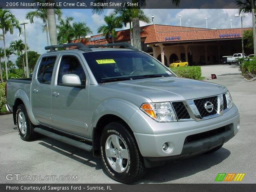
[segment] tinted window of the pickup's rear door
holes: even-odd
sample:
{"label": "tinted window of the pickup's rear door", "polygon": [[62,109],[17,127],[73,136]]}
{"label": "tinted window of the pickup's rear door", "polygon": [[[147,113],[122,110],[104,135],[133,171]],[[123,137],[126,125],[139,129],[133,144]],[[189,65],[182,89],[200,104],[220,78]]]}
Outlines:
{"label": "tinted window of the pickup's rear door", "polygon": [[37,79],[40,83],[51,84],[56,57],[44,57],[39,66]]}

